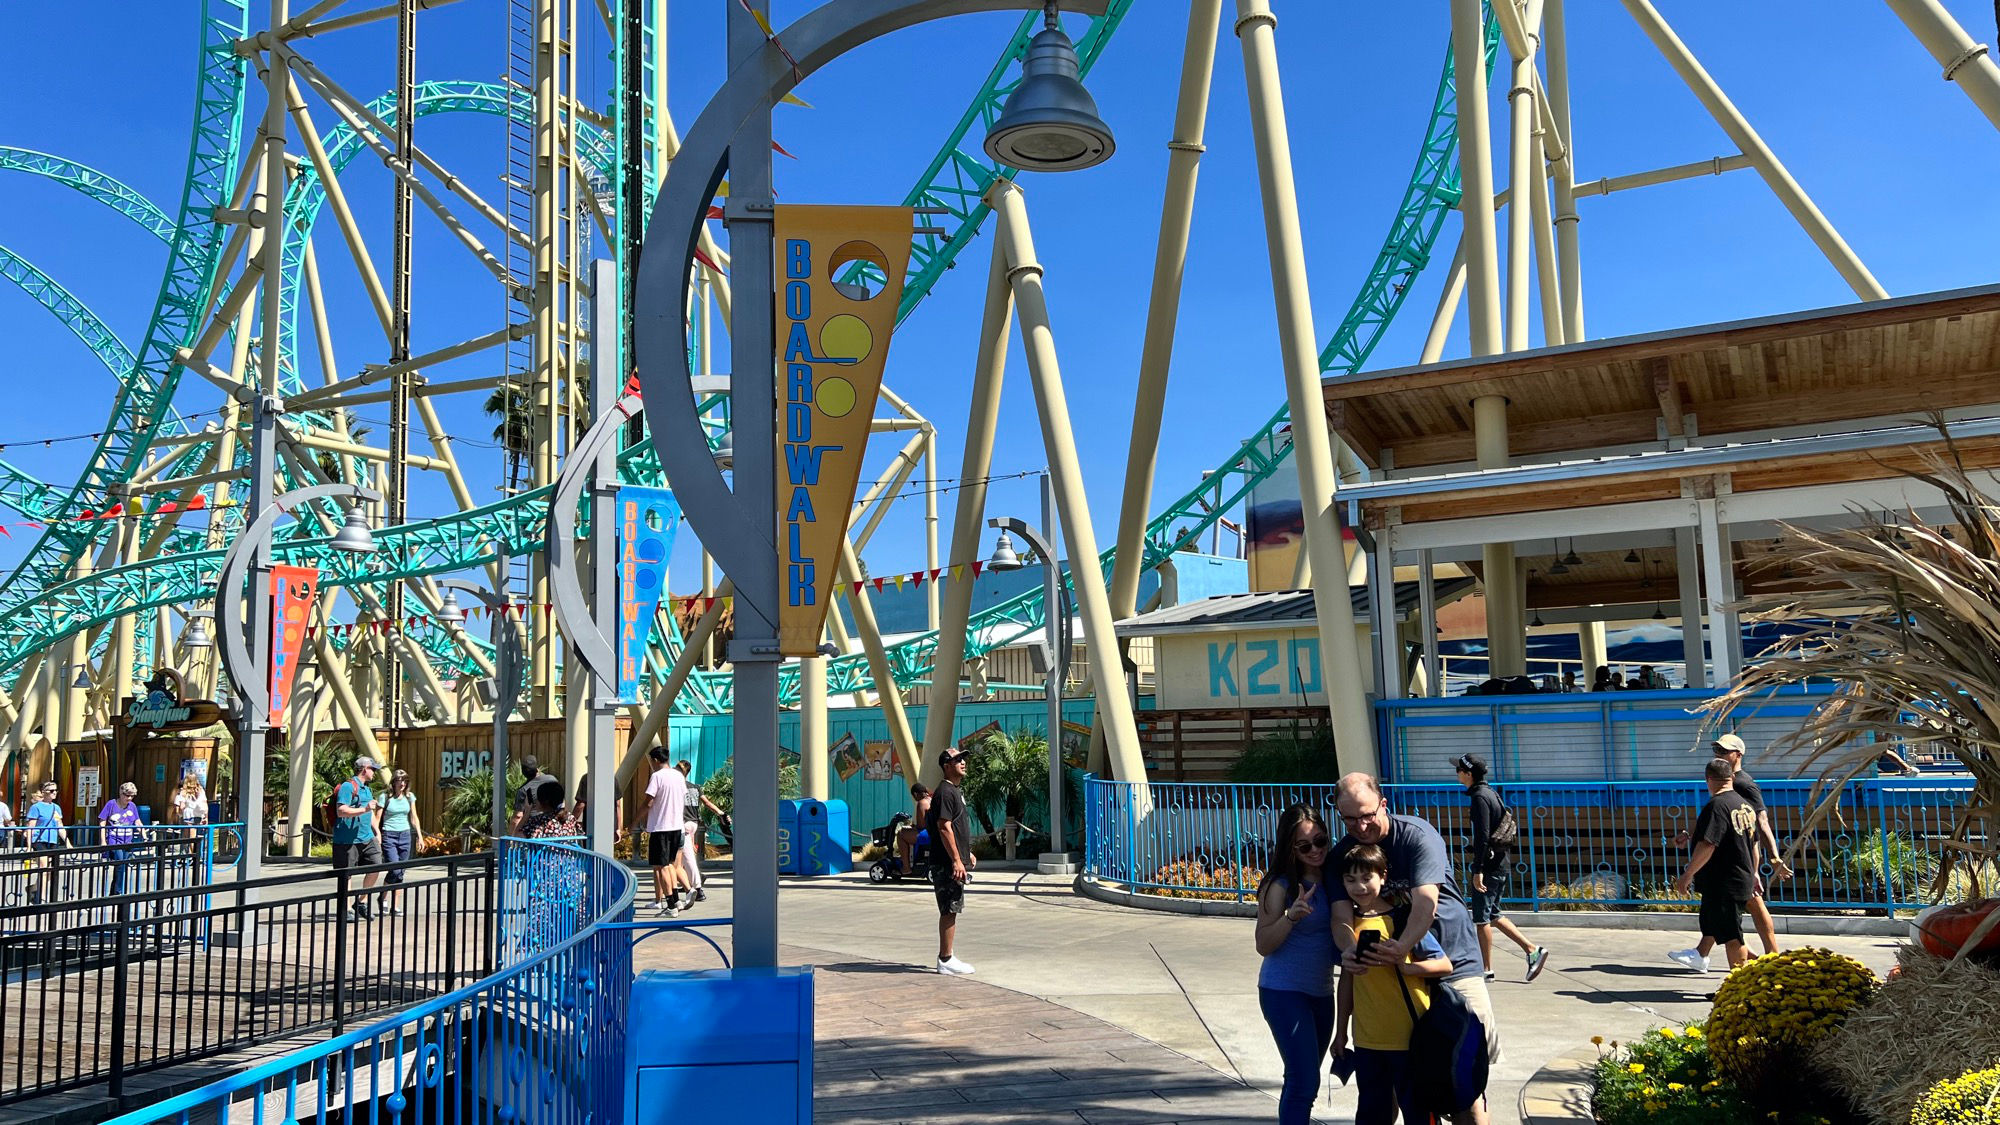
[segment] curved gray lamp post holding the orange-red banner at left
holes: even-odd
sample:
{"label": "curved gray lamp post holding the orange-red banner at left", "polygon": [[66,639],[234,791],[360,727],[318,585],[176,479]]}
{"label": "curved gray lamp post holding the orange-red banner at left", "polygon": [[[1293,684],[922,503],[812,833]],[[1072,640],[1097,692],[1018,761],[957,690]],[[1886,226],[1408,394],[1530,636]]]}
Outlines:
{"label": "curved gray lamp post holding the orange-red banner at left", "polygon": [[[272,498],[250,526],[236,536],[228,554],[222,556],[222,573],[216,579],[216,633],[222,639],[222,669],[236,689],[240,727],[240,753],[236,755],[236,805],[244,823],[244,855],[238,861],[238,877],[248,883],[264,867],[264,739],[270,735],[270,685],[266,665],[270,661],[270,532],[278,516],[308,500],[350,496],[356,500],[380,500],[382,494],[360,484],[312,484],[294,488]],[[336,550],[354,554],[374,552],[374,534],[368,530],[368,516],[360,506],[348,508],[346,522],[328,540]],[[250,589],[250,621],[244,623],[244,579],[254,579]]]}

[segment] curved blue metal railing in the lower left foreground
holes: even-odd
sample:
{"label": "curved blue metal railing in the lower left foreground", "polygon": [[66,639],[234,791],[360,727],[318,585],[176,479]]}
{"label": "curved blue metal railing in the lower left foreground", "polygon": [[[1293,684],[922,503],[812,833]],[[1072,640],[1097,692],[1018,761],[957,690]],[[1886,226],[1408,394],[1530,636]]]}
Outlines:
{"label": "curved blue metal railing in the lower left foreground", "polygon": [[500,865],[516,887],[502,913],[522,921],[500,971],[112,1125],[618,1121],[632,873],[548,841],[506,841]]}

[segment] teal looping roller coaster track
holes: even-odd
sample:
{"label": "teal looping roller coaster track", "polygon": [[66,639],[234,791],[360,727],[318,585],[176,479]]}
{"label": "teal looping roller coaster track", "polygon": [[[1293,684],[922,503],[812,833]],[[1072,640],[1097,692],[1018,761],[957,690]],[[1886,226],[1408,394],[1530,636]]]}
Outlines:
{"label": "teal looping roller coaster track", "polygon": [[[1104,16],[1090,22],[1078,40],[1086,68],[1102,54],[1130,8],[1132,0],[1114,0]],[[986,158],[976,142],[968,144],[968,138],[984,136],[986,126],[998,116],[1018,80],[1020,58],[1036,22],[1036,16],[1020,22],[972,106],[904,198],[912,206],[944,208],[946,220],[940,222],[944,234],[920,236],[914,248],[910,284],[904,290],[898,318],[908,316],[922,302],[978,234],[988,214],[980,202],[986,188],[996,178],[1012,174],[1010,168],[1000,168]],[[180,376],[174,354],[192,342],[206,302],[212,298],[222,228],[210,216],[216,208],[230,206],[230,176],[240,158],[248,72],[244,58],[236,54],[236,42],[244,34],[248,34],[248,26],[242,0],[206,0],[196,128],[180,206],[172,218],[138,192],[94,168],[40,152],[0,148],[0,168],[64,182],[118,210],[168,244],[168,268],[160,298],[144,342],[136,350],[118,342],[102,320],[68,296],[60,284],[18,256],[0,250],[0,266],[6,268],[6,276],[36,294],[118,374],[110,424],[74,486],[50,486],[0,464],[0,504],[28,512],[30,518],[48,520],[46,532],[34,542],[22,567],[0,583],[0,679],[12,681],[34,653],[48,651],[70,637],[90,635],[122,615],[144,615],[158,607],[184,607],[214,597],[222,552],[202,550],[200,538],[192,532],[176,538],[172,552],[74,579],[78,556],[98,546],[108,532],[108,520],[76,520],[74,516],[116,502],[122,486],[138,472],[154,436],[168,432],[168,426],[174,424],[170,412]],[[1496,44],[1498,30],[1488,20],[1484,44],[1488,70]],[[394,100],[378,100],[372,110],[376,116],[394,120],[398,106]],[[444,112],[526,116],[528,110],[522,92],[478,82],[426,82],[418,88],[414,102],[418,116]],[[328,132],[324,148],[338,170],[364,146],[352,130],[342,126]],[[614,144],[608,134],[594,128],[584,130],[580,148],[594,166],[610,172]],[[1446,52],[1416,168],[1382,250],[1320,354],[1324,372],[1346,374],[1366,362],[1400,312],[1412,278],[1430,264],[1438,232],[1446,214],[1458,206],[1458,196],[1456,82],[1452,58]],[[284,278],[280,278],[288,324],[296,322],[304,246],[324,200],[324,184],[318,182],[316,170],[308,168],[292,184],[286,204],[286,214],[294,220],[286,230],[286,268]],[[16,268],[20,268],[18,274]],[[278,360],[288,384],[296,382],[292,338],[292,332],[286,332]],[[1162,506],[1162,512],[1146,524],[1142,546],[1146,569],[1196,542],[1214,526],[1214,520],[1240,504],[1250,488],[1286,464],[1290,454],[1284,438],[1286,424],[1286,412],[1278,410],[1228,460],[1204,474],[1204,480]],[[720,432],[714,434],[714,440],[718,438]],[[192,456],[194,450],[182,460],[192,460]],[[620,454],[620,476],[636,482],[658,482],[660,472],[650,442],[636,442]],[[328,550],[324,536],[306,536],[316,530],[308,522],[300,524],[294,538],[276,546],[276,556],[320,567],[324,583],[330,587],[380,587],[392,579],[466,571],[486,565],[502,552],[534,550],[544,536],[546,506],[548,490],[538,488],[474,510],[386,528],[376,536],[380,550],[366,558]],[[1108,575],[1112,552],[1106,550],[1098,562]],[[1040,589],[978,613],[968,629],[966,655],[976,657],[1040,631],[1042,615]],[[678,643],[678,637],[670,643]],[[466,669],[466,657],[454,651],[442,635],[428,637],[426,649],[436,661],[448,663],[456,671]],[[936,633],[894,645],[888,655],[896,683],[908,685],[926,679],[934,649]],[[862,655],[828,663],[828,691],[870,689],[874,689],[874,681]],[[780,691],[786,701],[796,699],[794,675],[788,673],[780,681]],[[682,711],[728,707],[730,677],[726,673],[696,673],[676,701],[676,709]]]}

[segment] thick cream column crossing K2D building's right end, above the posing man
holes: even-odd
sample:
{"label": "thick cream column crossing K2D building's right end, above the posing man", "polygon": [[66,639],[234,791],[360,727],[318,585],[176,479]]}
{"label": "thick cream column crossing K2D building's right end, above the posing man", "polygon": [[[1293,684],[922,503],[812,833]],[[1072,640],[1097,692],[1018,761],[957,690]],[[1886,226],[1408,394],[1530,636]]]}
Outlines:
{"label": "thick cream column crossing K2D building's right end, above the posing man", "polygon": [[[1470,0],[1478,18],[1480,0]],[[1376,773],[1374,723],[1362,693],[1360,653],[1354,645],[1354,605],[1348,601],[1344,536],[1338,516],[1340,480],[1334,470],[1326,402],[1320,396],[1320,356],[1312,330],[1312,294],[1306,284],[1306,248],[1298,226],[1298,186],[1292,180],[1292,138],[1278,82],[1278,18],[1268,0],[1236,0],[1236,36],[1244,48],[1250,88],[1250,128],[1256,138],[1258,184],[1264,194],[1264,242],[1270,254],[1272,294],[1278,304],[1278,348],[1284,356],[1286,400],[1292,408],[1292,460],[1304,500],[1306,550],[1312,558],[1312,597],[1320,627],[1320,673],[1332,711],[1334,753],[1342,771]],[[1474,46],[1474,56],[1478,46]],[[1478,64],[1474,64],[1478,74]],[[1488,184],[1488,194],[1490,184]],[[1492,210],[1486,206],[1488,230]],[[1088,532],[1088,528],[1086,528]],[[1072,556],[1090,558],[1086,540],[1070,534]],[[1088,573],[1090,567],[1084,567]],[[1096,645],[1092,645],[1096,651]],[[1116,681],[1122,691],[1122,681]],[[1098,679],[1098,699],[1106,681]],[[1116,747],[1114,747],[1116,751]],[[1136,757],[1136,747],[1134,747]],[[1136,777],[1144,777],[1142,773]]]}

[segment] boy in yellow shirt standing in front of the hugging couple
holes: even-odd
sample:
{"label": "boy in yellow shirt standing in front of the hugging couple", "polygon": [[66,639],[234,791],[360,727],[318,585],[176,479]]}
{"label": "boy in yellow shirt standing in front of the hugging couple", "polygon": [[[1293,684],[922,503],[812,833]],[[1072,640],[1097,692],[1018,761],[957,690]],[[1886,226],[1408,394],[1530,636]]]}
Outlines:
{"label": "boy in yellow shirt standing in front of the hugging couple", "polygon": [[[1340,857],[1340,883],[1354,903],[1352,927],[1334,921],[1334,939],[1342,949],[1366,949],[1396,937],[1392,905],[1382,897],[1386,879],[1388,855],[1376,845],[1360,845]],[[1452,959],[1428,933],[1394,971],[1376,965],[1340,973],[1332,1053],[1338,1061],[1348,1051],[1352,1023],[1352,1067],[1360,1087],[1354,1125],[1392,1125],[1398,1109],[1404,1125],[1424,1125],[1430,1119],[1416,1107],[1416,1087],[1410,1083],[1410,1029],[1430,1009],[1430,979],[1450,973]]]}

